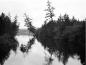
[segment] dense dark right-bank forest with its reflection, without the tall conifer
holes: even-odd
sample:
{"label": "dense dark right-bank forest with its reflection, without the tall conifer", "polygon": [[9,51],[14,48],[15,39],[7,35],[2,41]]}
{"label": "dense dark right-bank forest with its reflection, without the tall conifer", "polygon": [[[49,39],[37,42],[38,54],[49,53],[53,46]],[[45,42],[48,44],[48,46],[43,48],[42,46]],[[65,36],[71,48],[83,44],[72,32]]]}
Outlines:
{"label": "dense dark right-bank forest with its reflection, without the tall conifer", "polygon": [[[33,29],[38,41],[48,48],[50,54],[55,54],[65,65],[69,57],[78,55],[85,64],[85,20],[79,21],[67,14],[51,20],[41,28]],[[31,27],[29,27],[31,29]],[[30,30],[31,31],[31,30]],[[33,31],[31,31],[33,32]]]}

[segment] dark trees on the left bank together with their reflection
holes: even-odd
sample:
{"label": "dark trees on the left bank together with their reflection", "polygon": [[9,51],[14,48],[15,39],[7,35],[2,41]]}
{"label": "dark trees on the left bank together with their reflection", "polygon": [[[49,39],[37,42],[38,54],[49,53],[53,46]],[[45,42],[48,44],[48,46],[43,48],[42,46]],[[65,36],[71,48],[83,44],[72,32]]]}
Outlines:
{"label": "dark trees on the left bank together with their reflection", "polygon": [[15,36],[18,31],[17,18],[11,21],[4,13],[0,15],[0,64],[3,65],[10,51],[16,51],[18,42]]}

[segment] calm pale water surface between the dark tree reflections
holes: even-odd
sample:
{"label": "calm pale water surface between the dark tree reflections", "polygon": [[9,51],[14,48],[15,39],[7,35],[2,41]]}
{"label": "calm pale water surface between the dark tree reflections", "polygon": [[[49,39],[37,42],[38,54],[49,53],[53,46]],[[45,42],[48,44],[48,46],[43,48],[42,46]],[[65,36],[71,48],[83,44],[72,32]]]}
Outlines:
{"label": "calm pale water surface between the dark tree reflections", "polygon": [[[19,44],[21,45],[27,44],[28,40],[31,39],[32,37],[22,35],[16,36],[16,38]],[[41,46],[41,44],[37,40],[35,40],[35,44],[32,46],[32,49],[28,54],[23,54],[19,50],[19,48],[16,54],[11,51],[11,55],[4,65],[44,65],[45,64],[44,52],[45,51]],[[63,64],[55,58],[53,65],[63,65]],[[67,65],[81,65],[81,64],[79,60],[70,58]]]}

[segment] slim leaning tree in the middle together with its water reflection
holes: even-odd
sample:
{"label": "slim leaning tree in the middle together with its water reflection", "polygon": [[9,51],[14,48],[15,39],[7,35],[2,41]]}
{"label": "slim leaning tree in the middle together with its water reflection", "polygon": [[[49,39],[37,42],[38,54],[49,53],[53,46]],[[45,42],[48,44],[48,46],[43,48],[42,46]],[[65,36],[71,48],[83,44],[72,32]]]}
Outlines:
{"label": "slim leaning tree in the middle together with its water reflection", "polygon": [[31,49],[31,46],[34,44],[35,41],[35,34],[36,34],[36,28],[32,25],[32,19],[25,13],[25,26],[28,27],[29,33],[31,33],[31,36],[33,37],[30,39],[27,43],[27,45],[21,45],[20,50],[23,53],[28,53],[28,51]]}

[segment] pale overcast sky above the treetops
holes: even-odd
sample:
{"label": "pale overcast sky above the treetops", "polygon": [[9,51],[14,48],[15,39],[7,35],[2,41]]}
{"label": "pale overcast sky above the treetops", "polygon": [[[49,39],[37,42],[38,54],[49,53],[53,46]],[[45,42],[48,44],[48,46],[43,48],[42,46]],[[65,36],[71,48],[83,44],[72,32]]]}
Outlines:
{"label": "pale overcast sky above the treetops", "polygon": [[[47,0],[0,0],[0,13],[4,12],[6,15],[10,13],[12,18],[17,15],[20,28],[25,28],[24,13],[26,13],[32,18],[32,24],[40,27],[45,20],[46,2]],[[86,18],[86,0],[50,0],[50,2],[55,8],[55,19],[65,13],[80,20]]]}

